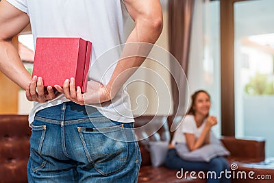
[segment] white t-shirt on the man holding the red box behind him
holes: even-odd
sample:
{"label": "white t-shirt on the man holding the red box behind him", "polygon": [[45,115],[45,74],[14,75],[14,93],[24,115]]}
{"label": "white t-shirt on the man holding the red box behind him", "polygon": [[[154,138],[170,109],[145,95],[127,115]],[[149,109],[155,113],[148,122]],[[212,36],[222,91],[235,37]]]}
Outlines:
{"label": "white t-shirt on the man holding the red box behind him", "polygon": [[[89,79],[108,84],[120,58],[121,48],[112,49],[125,42],[123,25],[129,17],[125,5],[120,0],[7,0],[18,10],[29,15],[34,36],[74,37],[92,42]],[[111,51],[108,51],[110,50]],[[97,61],[98,60],[98,61]],[[34,102],[29,114],[29,125],[38,110],[69,101],[60,95],[47,103]],[[114,121],[133,122],[129,95],[122,88],[110,102],[92,105],[105,117]]]}

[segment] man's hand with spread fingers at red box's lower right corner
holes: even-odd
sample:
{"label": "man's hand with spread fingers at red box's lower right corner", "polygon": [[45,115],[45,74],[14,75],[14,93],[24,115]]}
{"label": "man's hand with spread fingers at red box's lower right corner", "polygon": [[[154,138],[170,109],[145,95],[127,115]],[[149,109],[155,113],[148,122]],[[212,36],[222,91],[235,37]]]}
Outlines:
{"label": "man's hand with spread fingers at red box's lower right corner", "polygon": [[110,97],[110,92],[105,86],[92,80],[88,81],[88,88],[84,94],[81,93],[81,88],[79,86],[77,86],[77,90],[75,90],[75,79],[73,77],[71,80],[67,79],[64,82],[63,88],[58,85],[55,85],[54,87],[58,92],[64,93],[67,99],[75,101],[79,105],[103,103],[112,99]]}

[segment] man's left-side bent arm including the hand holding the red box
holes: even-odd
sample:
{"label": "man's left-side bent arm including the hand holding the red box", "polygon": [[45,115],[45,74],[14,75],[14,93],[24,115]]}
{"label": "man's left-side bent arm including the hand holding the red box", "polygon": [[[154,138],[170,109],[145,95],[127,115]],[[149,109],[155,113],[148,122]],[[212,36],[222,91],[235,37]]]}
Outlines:
{"label": "man's left-side bent arm including the hand holding the red box", "polygon": [[[12,38],[29,24],[29,16],[3,0],[0,2],[0,71],[10,80],[26,90],[29,101],[45,102],[55,97],[51,86],[44,92],[41,77],[29,75],[23,65],[18,51],[12,45]],[[38,91],[36,92],[36,87]]]}

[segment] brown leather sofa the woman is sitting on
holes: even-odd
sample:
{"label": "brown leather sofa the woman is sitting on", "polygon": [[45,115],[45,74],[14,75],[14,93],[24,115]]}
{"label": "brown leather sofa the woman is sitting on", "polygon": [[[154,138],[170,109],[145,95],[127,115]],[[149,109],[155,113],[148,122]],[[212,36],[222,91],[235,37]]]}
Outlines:
{"label": "brown leather sofa the woman is sitting on", "polygon": [[[151,120],[153,119],[153,120]],[[152,121],[152,122],[151,122]],[[151,158],[144,142],[170,141],[173,133],[169,126],[173,122],[172,117],[138,117],[136,118],[136,136],[139,141],[142,154],[142,164],[138,177],[138,183],[145,182],[206,182],[206,180],[177,179],[177,170],[170,170],[164,166],[154,168],[151,166]],[[149,124],[149,125],[148,125]],[[145,125],[145,127],[144,127]],[[151,136],[147,136],[155,131]],[[0,183],[27,182],[27,160],[29,157],[29,128],[25,115],[0,115]],[[231,152],[227,157],[229,162],[237,163],[238,170],[269,173],[273,176],[273,169],[254,168],[250,162],[264,161],[264,141],[262,139],[236,139],[234,137],[222,137],[223,144]],[[252,166],[248,167],[246,163]],[[232,180],[233,183],[249,182],[252,180]],[[271,182],[271,180],[268,180]],[[256,180],[258,182],[258,180]],[[262,181],[267,182],[267,180]]]}

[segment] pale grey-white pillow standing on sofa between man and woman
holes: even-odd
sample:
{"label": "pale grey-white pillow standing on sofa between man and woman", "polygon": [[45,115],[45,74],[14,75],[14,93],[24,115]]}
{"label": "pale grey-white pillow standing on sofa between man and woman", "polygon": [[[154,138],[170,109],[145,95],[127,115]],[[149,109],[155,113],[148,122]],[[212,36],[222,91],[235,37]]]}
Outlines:
{"label": "pale grey-white pillow standing on sofa between man and woman", "polygon": [[169,142],[167,141],[149,142],[150,159],[153,167],[160,167],[162,164],[164,164],[168,149]]}

